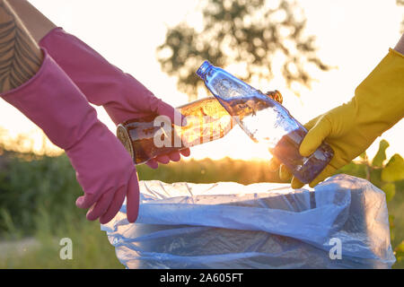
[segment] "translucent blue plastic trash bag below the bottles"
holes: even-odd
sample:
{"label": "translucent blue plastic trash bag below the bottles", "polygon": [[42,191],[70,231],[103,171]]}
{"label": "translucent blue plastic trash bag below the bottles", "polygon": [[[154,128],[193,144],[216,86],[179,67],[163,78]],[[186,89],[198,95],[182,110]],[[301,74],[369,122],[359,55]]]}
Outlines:
{"label": "translucent blue plastic trash bag below the bottles", "polygon": [[390,268],[385,195],[337,175],[315,189],[141,181],[136,223],[124,204],[101,225],[127,268]]}

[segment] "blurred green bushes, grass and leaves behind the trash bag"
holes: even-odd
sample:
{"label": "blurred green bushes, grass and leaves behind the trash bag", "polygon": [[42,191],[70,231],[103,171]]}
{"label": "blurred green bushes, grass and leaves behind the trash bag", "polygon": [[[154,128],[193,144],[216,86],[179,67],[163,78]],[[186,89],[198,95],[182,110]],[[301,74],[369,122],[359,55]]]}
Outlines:
{"label": "blurred green bushes, grass and leaves behind the trash bag", "polygon": [[[373,160],[366,154],[344,172],[367,178],[386,193],[391,219],[391,244],[404,260],[404,162],[399,154],[386,159],[382,141]],[[138,167],[139,178],[167,183],[235,181],[242,184],[279,182],[265,161],[180,161],[157,170]],[[123,268],[99,222],[88,222],[75,207],[82,189],[65,154],[56,157],[0,147],[0,268]],[[59,240],[73,240],[73,260],[61,260]]]}

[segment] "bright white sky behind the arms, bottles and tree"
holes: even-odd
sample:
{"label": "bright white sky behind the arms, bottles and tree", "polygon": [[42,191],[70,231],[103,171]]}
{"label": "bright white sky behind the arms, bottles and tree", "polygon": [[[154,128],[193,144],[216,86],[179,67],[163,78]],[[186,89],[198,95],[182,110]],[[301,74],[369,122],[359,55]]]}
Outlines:
{"label": "bright white sky behind the arms, bottles and tree", "polygon": [[[188,101],[187,95],[177,91],[176,79],[162,72],[155,48],[163,43],[167,27],[181,21],[193,25],[201,22],[198,1],[30,2],[57,26],[75,34],[110,63],[135,76],[157,97],[174,107]],[[285,88],[280,74],[265,86],[255,87],[262,91],[281,91],[285,108],[305,123],[352,98],[356,86],[400,39],[404,11],[397,7],[395,0],[301,0],[297,3],[307,18],[306,32],[316,36],[318,56],[338,68],[313,74],[316,82],[311,90],[301,91],[300,98]],[[101,121],[115,133],[115,126],[104,110],[97,108],[97,111]],[[28,135],[34,149],[40,151],[45,139],[40,129],[4,100],[0,100],[0,126],[11,137]],[[401,120],[382,135],[391,143],[388,156],[395,152],[404,154],[403,128]],[[371,157],[377,151],[379,141],[380,138],[369,148]],[[46,146],[52,148],[51,143],[46,142]],[[265,148],[250,141],[239,127],[233,128],[223,139],[192,148],[191,156],[195,159],[229,156],[243,160],[271,157]]]}

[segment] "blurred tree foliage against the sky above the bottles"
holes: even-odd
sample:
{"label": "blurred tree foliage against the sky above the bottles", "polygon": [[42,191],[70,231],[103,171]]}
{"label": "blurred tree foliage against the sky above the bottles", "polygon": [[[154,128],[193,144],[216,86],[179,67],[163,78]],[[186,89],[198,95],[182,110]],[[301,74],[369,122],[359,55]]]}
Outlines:
{"label": "blurred tree foliage against the sky above the bottles", "polygon": [[[328,71],[316,57],[315,38],[304,35],[303,11],[289,0],[208,0],[201,7],[202,30],[185,22],[167,31],[165,42],[157,48],[162,71],[178,78],[178,89],[197,97],[202,81],[195,74],[207,59],[213,65],[226,67],[245,64],[243,74],[235,74],[249,82],[253,77],[272,79],[274,61],[290,88],[293,83],[310,87],[309,64]],[[244,67],[243,66],[243,67]]]}

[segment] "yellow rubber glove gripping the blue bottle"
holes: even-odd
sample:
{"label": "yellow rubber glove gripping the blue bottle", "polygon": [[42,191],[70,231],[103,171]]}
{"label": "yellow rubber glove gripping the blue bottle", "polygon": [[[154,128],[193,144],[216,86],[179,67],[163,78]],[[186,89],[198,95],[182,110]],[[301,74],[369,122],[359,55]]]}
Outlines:
{"label": "yellow rubber glove gripping the blue bottle", "polygon": [[[354,160],[403,116],[404,56],[390,49],[389,54],[356,88],[352,100],[304,125],[309,132],[300,145],[299,152],[303,156],[309,156],[322,141],[329,143],[335,152],[329,165],[310,183],[310,187]],[[277,159],[270,162],[270,167],[277,170]],[[292,177],[284,165],[279,167],[279,176],[284,180]],[[303,187],[303,183],[292,178],[292,187]]]}

